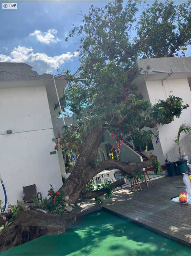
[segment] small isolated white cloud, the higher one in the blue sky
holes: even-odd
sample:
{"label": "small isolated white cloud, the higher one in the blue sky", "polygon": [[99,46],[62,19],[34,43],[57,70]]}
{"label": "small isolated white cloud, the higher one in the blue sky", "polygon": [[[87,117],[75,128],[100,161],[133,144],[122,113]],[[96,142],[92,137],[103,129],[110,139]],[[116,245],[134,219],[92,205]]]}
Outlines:
{"label": "small isolated white cloud, the higher one in the blue sky", "polygon": [[57,34],[56,29],[50,29],[48,32],[41,32],[40,30],[35,30],[34,33],[29,34],[30,36],[35,36],[37,41],[43,44],[50,44],[50,43],[57,43],[61,40],[55,37],[54,35]]}

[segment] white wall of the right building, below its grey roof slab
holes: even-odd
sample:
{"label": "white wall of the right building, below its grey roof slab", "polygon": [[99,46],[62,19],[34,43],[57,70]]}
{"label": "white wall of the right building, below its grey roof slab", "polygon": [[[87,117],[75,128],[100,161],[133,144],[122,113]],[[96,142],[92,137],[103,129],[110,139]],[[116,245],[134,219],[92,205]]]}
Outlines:
{"label": "white wall of the right building, below its grey roof slab", "polygon": [[[152,104],[157,103],[158,99],[166,100],[169,95],[181,97],[184,104],[191,102],[191,91],[187,78],[183,79],[167,79],[163,81],[163,85],[160,80],[157,81],[146,81],[146,87],[148,96]],[[167,95],[166,95],[167,94]],[[161,148],[163,150],[164,158],[167,158],[167,154],[171,151],[174,146],[174,140],[177,136],[181,123],[185,121],[191,124],[191,107],[187,110],[183,110],[180,118],[175,118],[170,124],[159,126],[159,140]],[[181,134],[181,140],[185,134]]]}

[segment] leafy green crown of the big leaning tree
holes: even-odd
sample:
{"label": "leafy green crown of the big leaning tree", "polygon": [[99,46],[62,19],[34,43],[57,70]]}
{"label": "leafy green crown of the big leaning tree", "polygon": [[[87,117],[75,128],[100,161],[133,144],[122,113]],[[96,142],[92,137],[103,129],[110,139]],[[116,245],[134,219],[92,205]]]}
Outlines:
{"label": "leafy green crown of the big leaning tree", "polygon": [[81,24],[69,34],[80,38],[79,67],[75,74],[63,72],[69,86],[62,96],[77,115],[78,125],[65,130],[64,141],[73,141],[98,125],[109,131],[121,129],[128,141],[147,144],[152,131],[144,127],[179,117],[187,108],[181,98],[170,96],[152,105],[132,80],[137,58],[184,55],[191,40],[190,17],[190,1],[178,5],[128,1],[125,6],[112,1],[104,8],[92,5],[88,14],[82,14]]}

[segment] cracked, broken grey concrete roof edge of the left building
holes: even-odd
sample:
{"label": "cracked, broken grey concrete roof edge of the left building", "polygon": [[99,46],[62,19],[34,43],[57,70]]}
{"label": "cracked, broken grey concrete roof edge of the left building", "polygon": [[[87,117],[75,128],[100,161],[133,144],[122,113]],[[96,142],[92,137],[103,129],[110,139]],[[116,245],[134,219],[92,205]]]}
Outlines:
{"label": "cracked, broken grey concrete roof edge of the left building", "polygon": [[[39,75],[32,68],[32,66],[25,63],[0,62],[0,82],[53,79],[51,74],[44,73]],[[65,77],[55,77],[55,79],[65,79]]]}

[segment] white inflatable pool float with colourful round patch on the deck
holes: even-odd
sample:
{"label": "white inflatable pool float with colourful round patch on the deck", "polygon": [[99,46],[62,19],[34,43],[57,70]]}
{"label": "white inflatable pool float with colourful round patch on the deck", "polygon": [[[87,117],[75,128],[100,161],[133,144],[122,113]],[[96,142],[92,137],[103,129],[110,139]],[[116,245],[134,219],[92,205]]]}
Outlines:
{"label": "white inflatable pool float with colourful round patch on the deck", "polygon": [[191,174],[183,172],[183,182],[186,192],[181,193],[178,197],[172,198],[171,201],[191,204]]}

